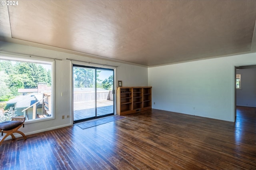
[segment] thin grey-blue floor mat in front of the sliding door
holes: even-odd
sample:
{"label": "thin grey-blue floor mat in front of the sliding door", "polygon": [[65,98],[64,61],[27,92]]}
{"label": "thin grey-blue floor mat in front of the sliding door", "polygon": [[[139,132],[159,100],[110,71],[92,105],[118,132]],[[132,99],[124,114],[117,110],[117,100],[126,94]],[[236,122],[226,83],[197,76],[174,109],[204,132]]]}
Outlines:
{"label": "thin grey-blue floor mat in front of the sliding door", "polygon": [[85,122],[85,123],[77,124],[77,126],[79,126],[82,129],[85,129],[85,128],[90,128],[90,127],[95,127],[95,126],[98,126],[98,125],[102,125],[104,123],[117,121],[117,120],[124,119],[124,118],[125,118],[124,116],[113,116],[113,117],[99,119],[99,120],[95,120],[95,121],[91,121],[91,122]]}

